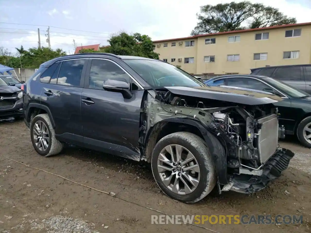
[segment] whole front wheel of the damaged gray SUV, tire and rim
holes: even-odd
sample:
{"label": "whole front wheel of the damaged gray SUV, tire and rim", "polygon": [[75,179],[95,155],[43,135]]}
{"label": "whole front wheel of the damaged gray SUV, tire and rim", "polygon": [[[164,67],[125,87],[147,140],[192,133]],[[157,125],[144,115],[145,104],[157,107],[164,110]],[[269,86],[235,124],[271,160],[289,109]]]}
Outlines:
{"label": "whole front wheel of the damaged gray SUV, tire and rim", "polygon": [[216,171],[204,140],[192,133],[176,132],[160,139],[151,158],[153,176],[169,197],[194,203],[216,185]]}

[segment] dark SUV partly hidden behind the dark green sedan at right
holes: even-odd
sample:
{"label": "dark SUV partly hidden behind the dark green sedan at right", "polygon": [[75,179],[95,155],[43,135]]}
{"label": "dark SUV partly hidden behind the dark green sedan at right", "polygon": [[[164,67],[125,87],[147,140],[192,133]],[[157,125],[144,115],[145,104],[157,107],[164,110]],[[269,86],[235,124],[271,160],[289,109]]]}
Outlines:
{"label": "dark SUV partly hidden behind the dark green sedan at right", "polygon": [[311,94],[311,64],[254,68],[251,75],[272,77]]}

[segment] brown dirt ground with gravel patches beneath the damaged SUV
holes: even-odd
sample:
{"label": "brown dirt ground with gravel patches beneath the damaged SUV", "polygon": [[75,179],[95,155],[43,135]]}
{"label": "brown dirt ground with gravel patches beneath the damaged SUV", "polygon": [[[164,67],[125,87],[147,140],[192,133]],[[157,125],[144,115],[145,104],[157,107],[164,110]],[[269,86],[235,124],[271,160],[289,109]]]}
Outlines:
{"label": "brown dirt ground with gravel patches beneath the damaged SUV", "polygon": [[[0,122],[0,233],[13,232],[311,232],[311,154],[295,138],[280,146],[296,153],[290,167],[256,194],[212,192],[195,204],[184,204],[160,192],[146,163],[67,147],[44,158],[34,150],[23,121]],[[49,171],[110,196],[64,180]],[[139,204],[139,205],[137,205]],[[145,208],[147,207],[147,208]],[[303,224],[151,224],[151,215],[303,215]],[[64,226],[71,228],[62,228]],[[74,226],[73,226],[74,225]],[[107,227],[108,226],[108,227]]]}

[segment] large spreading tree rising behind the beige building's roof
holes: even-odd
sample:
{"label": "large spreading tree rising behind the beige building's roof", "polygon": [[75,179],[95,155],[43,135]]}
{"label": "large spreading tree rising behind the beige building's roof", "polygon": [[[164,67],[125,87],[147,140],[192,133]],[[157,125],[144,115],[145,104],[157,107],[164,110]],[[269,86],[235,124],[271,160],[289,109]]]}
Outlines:
{"label": "large spreading tree rising behind the beige building's roof", "polygon": [[191,35],[296,23],[277,8],[249,1],[202,6],[197,19]]}

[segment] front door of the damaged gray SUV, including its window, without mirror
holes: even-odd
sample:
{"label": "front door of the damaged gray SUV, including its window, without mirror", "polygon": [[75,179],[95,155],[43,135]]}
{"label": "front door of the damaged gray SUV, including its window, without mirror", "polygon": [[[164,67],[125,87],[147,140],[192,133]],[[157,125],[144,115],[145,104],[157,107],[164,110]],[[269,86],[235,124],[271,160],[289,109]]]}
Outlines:
{"label": "front door of the damaged gray SUV, including its window, without mirror", "polygon": [[[90,60],[85,86],[81,94],[83,141],[89,148],[99,149],[139,160],[140,109],[144,90],[132,91],[124,99],[118,92],[103,89],[105,79],[131,77],[116,62],[109,59]],[[88,75],[89,74],[89,75]]]}

